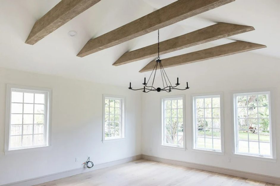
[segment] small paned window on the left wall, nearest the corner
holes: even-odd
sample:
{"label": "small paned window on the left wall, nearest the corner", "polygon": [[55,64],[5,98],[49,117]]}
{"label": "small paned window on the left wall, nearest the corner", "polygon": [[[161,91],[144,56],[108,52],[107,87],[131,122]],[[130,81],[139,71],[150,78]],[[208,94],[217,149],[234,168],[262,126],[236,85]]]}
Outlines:
{"label": "small paned window on the left wall, nearest the corner", "polygon": [[103,140],[124,137],[124,98],[103,96]]}

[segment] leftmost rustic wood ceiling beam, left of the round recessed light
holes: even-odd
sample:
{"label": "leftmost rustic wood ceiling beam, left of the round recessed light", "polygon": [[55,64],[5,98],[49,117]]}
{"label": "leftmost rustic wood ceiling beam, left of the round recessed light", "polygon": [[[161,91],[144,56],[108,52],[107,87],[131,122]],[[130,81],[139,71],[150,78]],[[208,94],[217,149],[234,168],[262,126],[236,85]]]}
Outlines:
{"label": "leftmost rustic wood ceiling beam, left of the round recessed light", "polygon": [[26,39],[27,44],[35,44],[80,13],[101,0],[62,0],[37,20]]}

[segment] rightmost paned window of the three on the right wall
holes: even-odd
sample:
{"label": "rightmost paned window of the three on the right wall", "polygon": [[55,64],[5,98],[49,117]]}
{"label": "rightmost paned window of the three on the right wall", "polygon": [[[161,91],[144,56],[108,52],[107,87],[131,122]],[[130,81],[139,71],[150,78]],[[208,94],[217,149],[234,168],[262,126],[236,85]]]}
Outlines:
{"label": "rightmost paned window of the three on the right wall", "polygon": [[270,92],[234,95],[235,153],[273,157]]}

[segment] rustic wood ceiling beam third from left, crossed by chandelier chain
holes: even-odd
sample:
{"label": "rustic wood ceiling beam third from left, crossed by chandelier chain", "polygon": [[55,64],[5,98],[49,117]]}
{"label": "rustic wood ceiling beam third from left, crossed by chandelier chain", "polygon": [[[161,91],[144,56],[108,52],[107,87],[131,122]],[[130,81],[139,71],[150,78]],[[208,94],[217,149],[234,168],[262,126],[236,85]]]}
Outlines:
{"label": "rustic wood ceiling beam third from left, crossed by chandelier chain", "polygon": [[[182,36],[174,37],[172,39],[160,42],[160,55],[252,30],[254,30],[254,27],[252,26],[217,23],[215,25],[193,31],[188,34],[184,34]],[[156,43],[147,47],[124,53],[113,65],[124,65],[126,63],[155,57],[157,55],[158,44]]]}

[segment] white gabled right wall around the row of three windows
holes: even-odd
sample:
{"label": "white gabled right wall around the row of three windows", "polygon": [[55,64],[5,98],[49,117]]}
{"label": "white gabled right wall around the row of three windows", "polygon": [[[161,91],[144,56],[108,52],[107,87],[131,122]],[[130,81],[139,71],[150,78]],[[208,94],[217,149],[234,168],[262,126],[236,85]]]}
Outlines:
{"label": "white gabled right wall around the row of three windows", "polygon": [[[148,93],[142,100],[142,154],[200,163],[210,166],[229,168],[251,173],[280,177],[280,60],[252,53],[242,53],[208,61],[181,66],[185,72],[179,73],[175,68],[166,69],[173,82],[176,76],[185,86],[189,82],[189,90],[169,93]],[[272,120],[276,128],[277,163],[236,158],[232,156],[233,118],[232,92],[252,89],[272,89]],[[224,93],[224,156],[192,151],[191,143],[191,94]],[[161,118],[160,96],[185,94],[186,151],[160,147]],[[231,158],[231,163],[228,162]]]}

